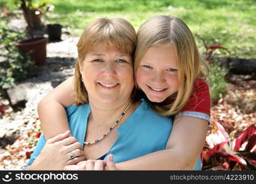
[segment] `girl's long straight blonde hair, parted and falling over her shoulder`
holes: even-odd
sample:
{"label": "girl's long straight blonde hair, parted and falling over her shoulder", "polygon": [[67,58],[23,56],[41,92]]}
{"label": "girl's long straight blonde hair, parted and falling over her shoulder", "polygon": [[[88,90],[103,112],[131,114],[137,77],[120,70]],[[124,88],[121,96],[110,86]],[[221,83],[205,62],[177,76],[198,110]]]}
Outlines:
{"label": "girl's long straight blonde hair, parted and falling over her shoulder", "polygon": [[[171,45],[176,53],[179,88],[169,98],[173,103],[160,105],[153,103],[153,109],[160,115],[169,116],[180,112],[187,104],[196,78],[205,79],[200,53],[195,39],[184,21],[176,17],[158,15],[145,21],[137,33],[137,46],[134,55],[134,76],[141,59],[150,47]],[[157,61],[155,61],[157,62]],[[207,71],[207,69],[206,69]],[[135,80],[136,81],[136,80]],[[138,88],[138,85],[136,84]]]}

